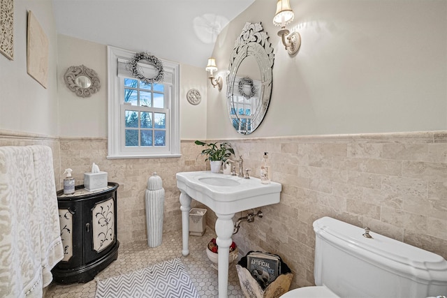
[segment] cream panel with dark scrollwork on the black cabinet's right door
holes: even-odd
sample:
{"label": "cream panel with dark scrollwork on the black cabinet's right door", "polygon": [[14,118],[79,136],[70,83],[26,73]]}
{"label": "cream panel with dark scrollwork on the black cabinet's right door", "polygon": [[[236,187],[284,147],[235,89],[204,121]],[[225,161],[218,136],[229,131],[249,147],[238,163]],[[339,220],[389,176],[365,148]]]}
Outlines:
{"label": "cream panel with dark scrollwork on the black cabinet's right door", "polygon": [[115,223],[113,198],[100,202],[91,211],[93,218],[93,249],[102,251],[115,239]]}

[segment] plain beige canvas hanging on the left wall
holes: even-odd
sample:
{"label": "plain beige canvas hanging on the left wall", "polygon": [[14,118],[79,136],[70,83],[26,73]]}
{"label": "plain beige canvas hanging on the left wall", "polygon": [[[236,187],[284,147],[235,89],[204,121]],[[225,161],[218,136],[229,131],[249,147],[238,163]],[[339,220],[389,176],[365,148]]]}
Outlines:
{"label": "plain beige canvas hanging on the left wall", "polygon": [[47,88],[48,38],[31,11],[28,12],[27,72]]}

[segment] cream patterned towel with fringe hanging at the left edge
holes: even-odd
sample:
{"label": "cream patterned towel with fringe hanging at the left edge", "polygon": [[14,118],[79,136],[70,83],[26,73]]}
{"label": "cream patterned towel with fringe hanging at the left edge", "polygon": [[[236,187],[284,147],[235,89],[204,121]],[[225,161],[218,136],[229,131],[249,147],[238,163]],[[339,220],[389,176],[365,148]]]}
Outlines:
{"label": "cream patterned towel with fringe hanging at the left edge", "polygon": [[0,147],[0,231],[0,297],[42,297],[64,256],[50,147]]}

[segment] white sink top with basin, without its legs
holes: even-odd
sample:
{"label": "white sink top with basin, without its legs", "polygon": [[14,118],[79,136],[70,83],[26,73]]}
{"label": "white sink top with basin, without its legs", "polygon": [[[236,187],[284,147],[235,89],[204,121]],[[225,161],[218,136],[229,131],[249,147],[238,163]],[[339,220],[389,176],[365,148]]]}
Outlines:
{"label": "white sink top with basin, without its legs", "polygon": [[279,203],[281,184],[261,184],[261,179],[230,176],[210,171],[179,172],[177,188],[219,214]]}

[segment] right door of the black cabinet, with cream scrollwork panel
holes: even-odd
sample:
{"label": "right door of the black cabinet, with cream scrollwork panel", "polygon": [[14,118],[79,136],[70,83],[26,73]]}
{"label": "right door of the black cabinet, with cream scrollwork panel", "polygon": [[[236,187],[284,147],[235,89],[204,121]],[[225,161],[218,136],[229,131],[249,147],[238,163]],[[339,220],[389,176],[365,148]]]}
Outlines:
{"label": "right door of the black cabinet, with cream scrollwork panel", "polygon": [[116,192],[92,198],[85,207],[85,264],[88,264],[108,253],[117,241]]}

